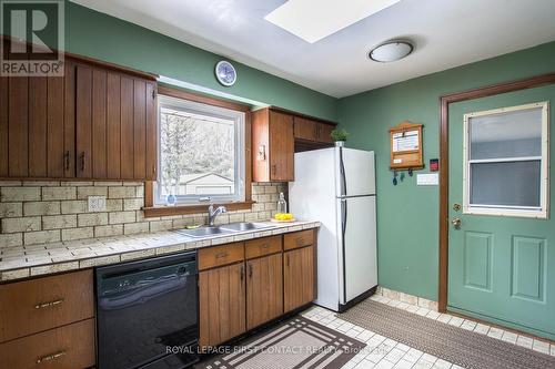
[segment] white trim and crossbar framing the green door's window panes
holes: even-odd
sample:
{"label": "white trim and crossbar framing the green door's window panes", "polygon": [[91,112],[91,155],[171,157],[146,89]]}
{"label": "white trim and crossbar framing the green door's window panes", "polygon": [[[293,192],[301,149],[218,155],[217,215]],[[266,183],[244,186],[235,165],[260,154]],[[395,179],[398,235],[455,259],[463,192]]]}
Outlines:
{"label": "white trim and crossbar framing the green door's window panes", "polygon": [[[511,113],[522,110],[542,109],[542,156],[512,157],[506,161],[542,160],[539,207],[529,206],[503,206],[503,205],[478,205],[470,204],[471,199],[471,163],[503,162],[504,160],[470,160],[470,120],[472,117]],[[463,129],[463,213],[474,215],[515,216],[531,218],[548,218],[549,216],[549,102],[543,101],[532,104],[501,107],[495,110],[464,114]]]}

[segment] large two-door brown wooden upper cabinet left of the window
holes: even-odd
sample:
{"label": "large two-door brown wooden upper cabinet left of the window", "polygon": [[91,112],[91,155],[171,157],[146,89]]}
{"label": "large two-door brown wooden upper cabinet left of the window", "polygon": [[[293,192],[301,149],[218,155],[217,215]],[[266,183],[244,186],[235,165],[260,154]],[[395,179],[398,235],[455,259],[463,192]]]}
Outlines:
{"label": "large two-door brown wooden upper cabinet left of the window", "polygon": [[0,178],[154,180],[154,79],[72,58],[64,68],[0,78]]}

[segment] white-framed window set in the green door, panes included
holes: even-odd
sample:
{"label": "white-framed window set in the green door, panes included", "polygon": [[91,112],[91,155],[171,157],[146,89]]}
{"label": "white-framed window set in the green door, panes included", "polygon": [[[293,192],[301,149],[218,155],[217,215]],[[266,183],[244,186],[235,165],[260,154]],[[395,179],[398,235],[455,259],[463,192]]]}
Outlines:
{"label": "white-framed window set in the green door, panes included", "polygon": [[464,212],[547,217],[548,103],[464,115]]}

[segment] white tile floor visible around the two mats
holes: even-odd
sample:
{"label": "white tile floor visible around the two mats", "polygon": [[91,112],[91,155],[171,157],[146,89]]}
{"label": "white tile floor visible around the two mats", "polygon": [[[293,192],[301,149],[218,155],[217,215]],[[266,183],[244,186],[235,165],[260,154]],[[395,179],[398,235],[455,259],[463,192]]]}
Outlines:
{"label": "white tile floor visible around the two mats", "polygon": [[[549,345],[546,341],[533,339],[528,336],[519,336],[515,332],[505,331],[503,329],[491,327],[473,320],[465,320],[448,314],[440,314],[423,307],[410,305],[398,300],[392,300],[384,296],[374,295],[371,297],[373,300],[394,306],[413,314],[425,316],[430,319],[440,320],[463,329],[473,330],[475,332],[487,335],[493,338],[504,340],[509,344],[526,347],[539,352],[551,353],[555,356],[555,345]],[[412,347],[396,342],[387,337],[374,334],[367,329],[355,326],[349,321],[342,320],[335,316],[334,311],[327,310],[322,307],[312,307],[302,316],[311,320],[317,321],[321,325],[336,329],[350,337],[355,337],[361,341],[366,342],[366,348],[357,353],[351,361],[349,361],[343,369],[457,369],[462,368],[448,361],[442,360],[435,356],[422,352]]]}

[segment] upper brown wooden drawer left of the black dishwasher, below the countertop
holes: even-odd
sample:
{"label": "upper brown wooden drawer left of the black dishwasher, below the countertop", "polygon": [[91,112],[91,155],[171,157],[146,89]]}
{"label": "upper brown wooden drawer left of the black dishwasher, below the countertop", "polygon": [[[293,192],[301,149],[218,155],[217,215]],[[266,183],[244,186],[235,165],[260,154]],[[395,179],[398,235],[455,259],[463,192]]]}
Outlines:
{"label": "upper brown wooden drawer left of the black dishwasher, below the countertop", "polygon": [[0,285],[0,342],[94,316],[92,269]]}

